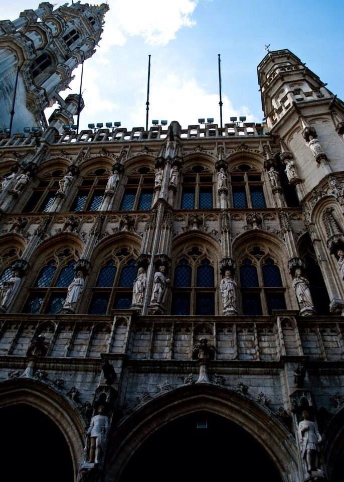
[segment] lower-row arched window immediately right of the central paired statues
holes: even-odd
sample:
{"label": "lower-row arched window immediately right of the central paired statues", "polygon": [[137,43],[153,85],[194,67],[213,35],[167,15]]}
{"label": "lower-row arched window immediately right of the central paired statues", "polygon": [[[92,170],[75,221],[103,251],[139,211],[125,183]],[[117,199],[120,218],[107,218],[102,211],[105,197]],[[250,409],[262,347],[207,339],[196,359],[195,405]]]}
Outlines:
{"label": "lower-row arched window immediately right of the central paired statues", "polygon": [[[214,267],[203,253],[197,251],[182,258],[175,268],[171,314],[214,315]],[[190,256],[191,255],[191,256]]]}

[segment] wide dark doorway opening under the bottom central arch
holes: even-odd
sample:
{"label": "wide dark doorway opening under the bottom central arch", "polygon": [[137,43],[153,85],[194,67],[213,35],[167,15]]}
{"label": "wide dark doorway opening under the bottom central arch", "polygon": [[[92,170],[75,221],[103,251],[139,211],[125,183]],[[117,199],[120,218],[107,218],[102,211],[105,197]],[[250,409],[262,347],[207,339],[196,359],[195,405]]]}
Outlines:
{"label": "wide dark doorway opening under the bottom central arch", "polygon": [[120,477],[149,482],[255,480],[280,482],[263,447],[238,424],[199,411],[180,417],[151,435]]}

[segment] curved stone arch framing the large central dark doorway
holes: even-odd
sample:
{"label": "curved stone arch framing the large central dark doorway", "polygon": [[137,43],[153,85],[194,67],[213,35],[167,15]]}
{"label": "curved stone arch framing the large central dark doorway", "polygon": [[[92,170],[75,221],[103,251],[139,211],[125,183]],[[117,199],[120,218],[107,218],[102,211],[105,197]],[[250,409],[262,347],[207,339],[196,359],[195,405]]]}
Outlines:
{"label": "curved stone arch framing the large central dark doorway", "polygon": [[[199,384],[179,387],[155,397],[135,410],[117,427],[113,435],[110,434],[105,482],[127,482],[122,477],[127,477],[130,473],[128,467],[131,457],[138,450],[144,451],[144,444],[149,443],[147,441],[151,436],[158,439],[156,434],[161,428],[184,416],[202,413],[208,413],[212,419],[225,419],[224,425],[228,427],[236,425],[235,429],[244,438],[246,432],[250,446],[259,446],[266,459],[270,460],[272,472],[275,470],[281,481],[301,480],[297,447],[286,427],[267,410],[234,391],[211,384]],[[174,460],[170,458],[170,464],[173,463]],[[258,475],[259,478],[264,478],[263,474]]]}

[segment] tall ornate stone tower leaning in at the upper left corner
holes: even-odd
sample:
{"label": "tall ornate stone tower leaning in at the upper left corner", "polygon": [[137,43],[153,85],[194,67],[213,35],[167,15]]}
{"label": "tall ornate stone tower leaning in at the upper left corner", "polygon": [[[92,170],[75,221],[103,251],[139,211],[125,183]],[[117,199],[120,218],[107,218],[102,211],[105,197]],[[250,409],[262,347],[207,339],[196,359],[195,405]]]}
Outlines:
{"label": "tall ornate stone tower leaning in at the upper left corner", "polygon": [[[12,133],[45,129],[44,109],[58,101],[73,70],[95,52],[108,6],[76,2],[53,11],[43,2],[18,19],[0,22],[0,129],[9,129],[18,74]],[[75,113],[75,112],[73,112]]]}

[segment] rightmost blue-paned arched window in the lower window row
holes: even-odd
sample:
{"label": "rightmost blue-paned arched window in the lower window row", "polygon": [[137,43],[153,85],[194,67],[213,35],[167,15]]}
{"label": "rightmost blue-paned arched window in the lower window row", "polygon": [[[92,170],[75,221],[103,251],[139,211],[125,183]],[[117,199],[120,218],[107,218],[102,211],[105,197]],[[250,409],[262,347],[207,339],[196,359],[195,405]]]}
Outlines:
{"label": "rightmost blue-paned arched window in the lower window row", "polygon": [[271,314],[285,309],[281,274],[274,260],[255,247],[240,265],[240,288],[244,315]]}

